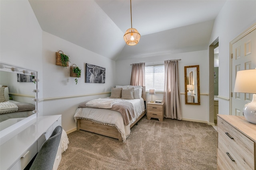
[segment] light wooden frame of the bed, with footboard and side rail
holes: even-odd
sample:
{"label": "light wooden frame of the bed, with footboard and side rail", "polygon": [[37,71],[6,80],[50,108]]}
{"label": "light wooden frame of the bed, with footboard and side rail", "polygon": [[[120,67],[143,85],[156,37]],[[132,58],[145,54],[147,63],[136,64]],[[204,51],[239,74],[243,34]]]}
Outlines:
{"label": "light wooden frame of the bed, with footboard and side rail", "polygon": [[[146,89],[145,86],[142,86],[142,98],[144,102],[146,101]],[[145,107],[146,108],[146,107]],[[144,115],[146,114],[146,109],[142,112],[142,114],[130,125],[132,128]],[[77,130],[88,131],[92,133],[97,133],[100,135],[104,135],[107,137],[112,137],[118,139],[118,141],[122,142],[121,133],[116,129],[115,126],[103,125],[101,123],[96,123],[86,119],[78,119],[77,120]]]}

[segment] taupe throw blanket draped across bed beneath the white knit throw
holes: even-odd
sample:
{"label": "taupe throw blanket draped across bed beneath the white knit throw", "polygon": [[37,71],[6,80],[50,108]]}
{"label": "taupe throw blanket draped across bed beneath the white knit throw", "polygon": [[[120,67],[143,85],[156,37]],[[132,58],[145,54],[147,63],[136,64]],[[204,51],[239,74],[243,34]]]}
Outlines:
{"label": "taupe throw blanket draped across bed beneath the white knit throw", "polygon": [[[86,104],[88,101],[81,103],[78,107],[90,107]],[[130,120],[135,117],[133,106],[130,102],[118,102],[112,105],[110,110],[119,111],[124,119],[124,125],[129,125]]]}

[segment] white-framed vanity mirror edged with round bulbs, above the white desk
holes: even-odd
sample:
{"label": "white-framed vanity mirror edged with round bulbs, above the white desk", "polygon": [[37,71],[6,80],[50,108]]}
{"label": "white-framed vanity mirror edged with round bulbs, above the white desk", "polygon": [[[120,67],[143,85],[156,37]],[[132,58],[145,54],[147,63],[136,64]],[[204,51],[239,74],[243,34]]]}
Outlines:
{"label": "white-framed vanity mirror edged with round bulbs, above the white desk", "polygon": [[0,63],[1,137],[36,117],[38,81],[35,70]]}

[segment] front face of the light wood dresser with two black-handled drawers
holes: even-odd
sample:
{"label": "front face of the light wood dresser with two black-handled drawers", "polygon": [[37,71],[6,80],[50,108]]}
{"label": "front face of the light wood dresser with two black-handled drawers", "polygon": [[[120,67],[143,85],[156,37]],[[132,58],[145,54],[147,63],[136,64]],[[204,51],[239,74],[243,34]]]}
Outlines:
{"label": "front face of the light wood dresser with two black-handled drawers", "polygon": [[218,117],[218,167],[254,169],[254,142]]}

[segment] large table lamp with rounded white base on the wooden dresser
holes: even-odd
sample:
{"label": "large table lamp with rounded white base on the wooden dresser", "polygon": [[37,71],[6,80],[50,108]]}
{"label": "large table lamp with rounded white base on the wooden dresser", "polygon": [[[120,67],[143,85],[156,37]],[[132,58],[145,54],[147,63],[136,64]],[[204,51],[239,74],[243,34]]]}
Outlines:
{"label": "large table lamp with rounded white base on the wooden dresser", "polygon": [[256,124],[256,69],[242,70],[236,73],[234,92],[252,93],[252,102],[243,109],[245,119]]}

